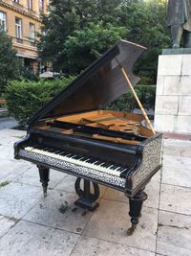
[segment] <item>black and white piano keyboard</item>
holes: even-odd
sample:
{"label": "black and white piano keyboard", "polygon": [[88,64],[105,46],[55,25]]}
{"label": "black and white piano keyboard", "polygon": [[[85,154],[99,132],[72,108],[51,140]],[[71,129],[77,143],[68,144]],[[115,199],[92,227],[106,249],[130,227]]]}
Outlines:
{"label": "black and white piano keyboard", "polygon": [[96,171],[106,173],[109,175],[120,176],[121,173],[128,170],[127,167],[118,166],[118,165],[115,165],[114,163],[107,163],[100,159],[96,159],[94,157],[78,155],[68,151],[53,150],[52,148],[40,149],[40,148],[34,148],[34,147],[26,147],[25,151],[31,151],[37,154],[53,157],[58,160],[72,163],[74,165],[78,165],[81,167],[94,169]]}

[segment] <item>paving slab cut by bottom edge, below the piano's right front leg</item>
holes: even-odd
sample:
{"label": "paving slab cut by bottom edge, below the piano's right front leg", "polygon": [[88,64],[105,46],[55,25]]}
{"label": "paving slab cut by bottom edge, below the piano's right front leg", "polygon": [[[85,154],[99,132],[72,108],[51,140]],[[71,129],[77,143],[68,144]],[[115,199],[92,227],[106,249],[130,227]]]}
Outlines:
{"label": "paving slab cut by bottom edge, below the piano's right front leg", "polygon": [[137,248],[129,247],[122,244],[111,243],[107,241],[98,240],[95,238],[81,237],[71,256],[155,256],[155,253]]}

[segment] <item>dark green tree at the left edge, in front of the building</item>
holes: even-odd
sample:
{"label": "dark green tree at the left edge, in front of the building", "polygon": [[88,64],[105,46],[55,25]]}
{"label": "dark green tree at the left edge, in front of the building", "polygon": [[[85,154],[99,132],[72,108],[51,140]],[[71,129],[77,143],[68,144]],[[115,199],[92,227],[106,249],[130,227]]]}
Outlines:
{"label": "dark green tree at the left edge, in front of the building", "polygon": [[20,62],[12,48],[11,38],[0,30],[0,91],[8,81],[16,79],[20,72]]}

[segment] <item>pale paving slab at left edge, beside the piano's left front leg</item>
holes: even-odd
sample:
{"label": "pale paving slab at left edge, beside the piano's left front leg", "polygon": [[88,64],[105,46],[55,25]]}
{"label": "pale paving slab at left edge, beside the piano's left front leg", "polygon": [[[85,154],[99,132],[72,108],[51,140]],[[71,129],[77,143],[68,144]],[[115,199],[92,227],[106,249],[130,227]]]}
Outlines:
{"label": "pale paving slab at left edge, beside the piano's left front leg", "polygon": [[0,188],[0,214],[20,219],[41,197],[39,188],[11,182]]}

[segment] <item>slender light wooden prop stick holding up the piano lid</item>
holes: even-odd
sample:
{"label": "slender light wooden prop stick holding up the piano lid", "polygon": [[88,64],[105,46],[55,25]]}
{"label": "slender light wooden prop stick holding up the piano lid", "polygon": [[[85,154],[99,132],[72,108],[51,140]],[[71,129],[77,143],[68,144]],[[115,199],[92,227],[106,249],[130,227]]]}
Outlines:
{"label": "slender light wooden prop stick holding up the piano lid", "polygon": [[152,124],[151,124],[151,121],[149,120],[149,118],[148,118],[148,116],[147,116],[147,114],[146,114],[146,112],[145,112],[143,106],[141,105],[141,103],[140,103],[140,101],[139,101],[139,99],[138,99],[138,95],[137,95],[137,93],[136,93],[136,91],[135,91],[135,89],[134,89],[134,86],[132,85],[131,81],[129,80],[128,75],[127,75],[127,73],[126,73],[124,67],[123,67],[122,64],[118,61],[117,58],[116,58],[116,60],[117,60],[117,64],[120,66],[120,68],[121,68],[121,70],[122,70],[122,73],[123,73],[123,76],[124,76],[125,80],[127,81],[129,87],[131,88],[131,90],[132,90],[132,92],[133,92],[133,94],[134,94],[134,96],[135,96],[135,98],[136,98],[136,101],[137,101],[137,103],[138,103],[138,106],[139,106],[140,110],[142,111],[142,114],[143,114],[143,116],[144,116],[144,118],[145,118],[145,120],[146,120],[148,126],[151,128],[153,134],[156,134],[156,131],[155,131],[155,129],[153,128],[153,126],[152,126]]}

